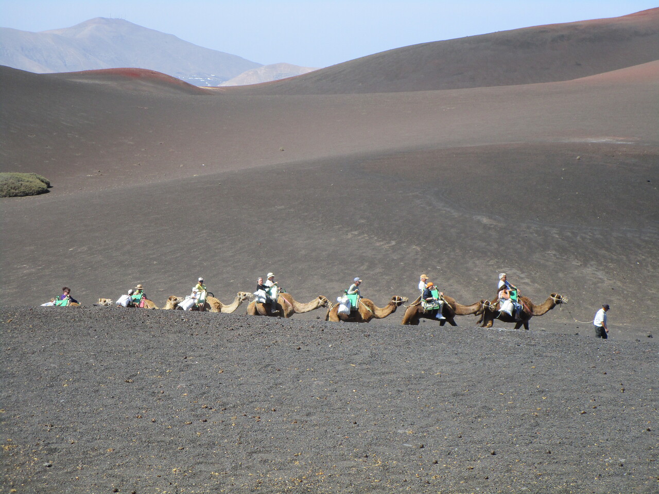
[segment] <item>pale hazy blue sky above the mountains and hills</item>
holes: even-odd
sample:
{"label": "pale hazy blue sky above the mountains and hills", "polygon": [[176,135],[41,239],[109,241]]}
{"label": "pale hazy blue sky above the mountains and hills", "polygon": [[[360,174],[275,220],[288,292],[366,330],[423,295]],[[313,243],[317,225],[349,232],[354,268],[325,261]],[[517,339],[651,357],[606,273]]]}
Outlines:
{"label": "pale hazy blue sky above the mountains and hills", "polygon": [[659,0],[0,0],[0,26],[43,31],[124,18],[257,63],[326,67],[425,41],[658,6]]}

